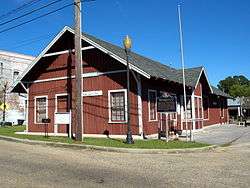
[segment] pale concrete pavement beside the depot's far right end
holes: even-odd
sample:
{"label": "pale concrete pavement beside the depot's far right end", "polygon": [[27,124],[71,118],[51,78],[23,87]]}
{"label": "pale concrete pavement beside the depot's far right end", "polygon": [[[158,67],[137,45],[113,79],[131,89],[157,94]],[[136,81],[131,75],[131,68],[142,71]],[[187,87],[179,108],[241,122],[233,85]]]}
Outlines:
{"label": "pale concrete pavement beside the depot's far right end", "polygon": [[226,124],[206,127],[194,133],[194,140],[212,145],[246,143],[250,142],[250,126]]}

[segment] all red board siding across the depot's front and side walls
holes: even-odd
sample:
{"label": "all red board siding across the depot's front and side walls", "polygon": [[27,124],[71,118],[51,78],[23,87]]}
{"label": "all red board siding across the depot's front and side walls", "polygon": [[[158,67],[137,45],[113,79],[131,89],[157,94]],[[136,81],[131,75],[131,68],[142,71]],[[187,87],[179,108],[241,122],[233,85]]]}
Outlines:
{"label": "all red board siding across the depot's front and side walls", "polygon": [[[66,37],[67,38],[67,37]],[[65,37],[64,37],[65,39]],[[63,40],[64,40],[63,39]],[[61,40],[61,39],[60,39]],[[73,41],[70,40],[65,41]],[[65,50],[72,48],[72,43],[65,41],[59,41],[55,46],[52,47],[50,52]],[[67,46],[68,45],[68,46]],[[89,44],[84,45],[88,46]],[[54,132],[54,113],[55,113],[55,96],[60,93],[69,94],[69,107],[74,109],[74,98],[75,98],[75,83],[71,77],[75,74],[74,69],[74,55],[62,54],[59,56],[46,57],[40,60],[40,62],[32,69],[32,71],[26,76],[27,81],[37,81],[50,78],[68,77],[65,80],[50,81],[43,83],[32,83],[29,85],[29,132],[43,132],[44,125],[34,123],[34,98],[36,96],[48,96],[48,116],[51,119],[49,124],[49,132]],[[102,53],[97,49],[91,49],[83,52],[83,73],[90,72],[107,72],[125,70],[126,67],[108,54]],[[138,114],[137,114],[137,90],[136,82],[131,75],[131,126],[134,135],[138,134]],[[161,79],[151,78],[146,79],[142,77],[142,119],[143,119],[143,131],[146,135],[158,133],[158,127],[160,118],[158,114],[157,121],[149,121],[149,109],[148,109],[148,90],[175,93],[178,97],[182,95],[183,88],[181,84],[174,82],[168,82]],[[108,74],[91,78],[84,78],[83,81],[84,91],[95,91],[101,90],[101,96],[95,97],[83,97],[83,117],[84,117],[84,133],[87,134],[102,134],[108,131],[110,134],[126,134],[127,124],[126,123],[109,123],[109,109],[108,109],[108,91],[116,89],[126,88],[126,74],[116,73]],[[191,88],[187,87],[187,94],[191,95]],[[201,76],[201,80],[195,89],[195,95],[210,95],[210,90],[207,82],[205,81],[204,75]],[[220,118],[220,107],[213,106],[211,103],[216,101],[215,98],[209,98],[209,119],[204,122],[204,125],[216,124],[219,122],[227,121],[227,106],[226,102],[224,105],[225,115],[224,118]],[[62,108],[65,108],[65,104],[62,102]],[[61,108],[61,107],[60,107]],[[75,115],[73,114],[73,122]],[[181,129],[181,118],[180,114],[177,115],[177,129]],[[195,123],[196,128],[202,127],[202,122]],[[189,126],[191,123],[189,123]],[[185,125],[183,126],[185,129]],[[73,126],[73,132],[75,127]],[[58,131],[67,132],[66,126],[59,126]]]}

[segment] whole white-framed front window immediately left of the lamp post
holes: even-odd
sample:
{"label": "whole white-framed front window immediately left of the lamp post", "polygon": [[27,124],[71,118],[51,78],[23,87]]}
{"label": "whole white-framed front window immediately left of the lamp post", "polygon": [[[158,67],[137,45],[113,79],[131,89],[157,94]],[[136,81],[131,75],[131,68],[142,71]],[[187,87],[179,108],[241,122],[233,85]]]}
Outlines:
{"label": "whole white-framed front window immediately left of the lamp post", "polygon": [[109,123],[127,122],[127,90],[109,90]]}

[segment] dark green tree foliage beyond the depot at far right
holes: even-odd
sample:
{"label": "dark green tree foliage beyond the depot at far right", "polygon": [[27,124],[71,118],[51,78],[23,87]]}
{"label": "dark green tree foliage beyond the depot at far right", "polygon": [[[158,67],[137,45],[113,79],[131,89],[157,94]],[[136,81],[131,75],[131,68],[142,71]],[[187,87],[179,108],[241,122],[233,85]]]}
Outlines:
{"label": "dark green tree foliage beyond the depot at far right", "polygon": [[218,88],[233,97],[250,96],[250,80],[245,76],[229,76],[221,80]]}

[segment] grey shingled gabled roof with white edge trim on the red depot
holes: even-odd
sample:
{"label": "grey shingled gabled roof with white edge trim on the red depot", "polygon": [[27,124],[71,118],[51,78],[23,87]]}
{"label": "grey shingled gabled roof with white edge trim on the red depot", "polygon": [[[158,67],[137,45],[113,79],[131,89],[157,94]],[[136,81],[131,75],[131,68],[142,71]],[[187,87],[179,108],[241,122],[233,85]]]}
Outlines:
{"label": "grey shingled gabled roof with white edge trim on the red depot", "polygon": [[[50,42],[50,44],[40,53],[40,55],[32,62],[32,64],[28,67],[28,69],[20,76],[18,82],[16,82],[13,85],[12,91],[14,90],[15,87],[18,86],[20,81],[23,81],[23,78],[25,77],[25,75],[27,75],[28,72],[31,71],[31,69],[39,62],[41,58],[43,58],[43,56],[49,51],[49,49],[53,46],[53,44],[65,32],[71,32],[72,34],[74,34],[74,30],[72,28],[65,26],[60,31],[60,33],[58,33],[57,36]],[[116,60],[123,63],[124,65],[126,65],[126,53],[123,48],[117,45],[111,44],[109,42],[106,42],[104,40],[98,39],[86,33],[82,33],[82,39],[90,43],[97,49],[109,54],[111,57],[115,58]],[[160,78],[160,79],[182,84],[182,71],[179,69],[174,69],[169,66],[163,65],[157,61],[154,61],[152,59],[139,55],[135,52],[131,52],[130,54],[130,63],[131,63],[130,64],[131,69],[142,74],[146,78],[151,78],[151,77],[156,78],[156,79]],[[192,88],[195,88],[200,79],[202,72],[205,73],[203,67],[185,69],[186,85],[191,86]],[[209,84],[209,81],[208,81],[208,84]],[[210,87],[210,84],[209,84],[209,87]],[[211,92],[212,92],[212,89],[211,89]]]}

